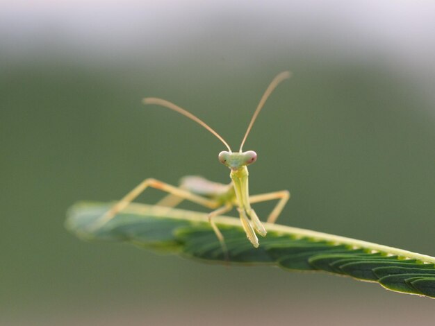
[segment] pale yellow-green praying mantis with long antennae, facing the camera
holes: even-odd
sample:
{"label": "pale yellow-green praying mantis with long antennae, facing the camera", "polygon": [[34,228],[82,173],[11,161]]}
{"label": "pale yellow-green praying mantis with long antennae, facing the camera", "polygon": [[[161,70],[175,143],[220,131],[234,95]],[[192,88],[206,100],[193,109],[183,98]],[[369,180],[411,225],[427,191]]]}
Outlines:
{"label": "pale yellow-green praying mantis with long antennae, facing the camera", "polygon": [[256,161],[257,155],[254,151],[243,151],[243,144],[251,131],[252,126],[258,116],[258,113],[263,108],[265,101],[268,99],[273,90],[281,83],[281,81],[290,78],[289,71],[283,71],[278,74],[270,83],[265,93],[261,97],[260,102],[249,126],[245,132],[242,143],[240,144],[240,149],[238,152],[231,151],[229,144],[225,141],[215,130],[208,126],[204,121],[195,117],[192,113],[180,108],[178,105],[171,103],[169,101],[163,100],[161,98],[148,97],[143,99],[143,103],[150,105],[161,105],[175,112],[179,112],[189,119],[199,123],[199,125],[210,131],[215,137],[220,139],[222,143],[227,147],[228,151],[222,151],[219,153],[219,161],[228,166],[231,170],[230,178],[231,182],[228,185],[224,185],[217,182],[211,182],[205,178],[199,176],[187,176],[181,179],[181,184],[179,187],[174,187],[165,182],[156,180],[154,178],[147,178],[140,182],[133,190],[131,190],[126,196],[124,196],[119,202],[117,202],[111,209],[108,210],[99,220],[97,225],[103,225],[104,223],[110,221],[117,213],[121,212],[126,206],[129,205],[136,197],[138,197],[147,187],[152,187],[155,189],[160,189],[168,193],[162,200],[160,200],[156,205],[175,207],[179,205],[183,200],[190,200],[193,203],[197,203],[209,209],[214,209],[208,214],[208,221],[211,223],[217,239],[219,239],[222,249],[226,252],[226,246],[224,242],[224,237],[222,232],[215,225],[213,218],[215,216],[222,215],[229,212],[234,206],[236,206],[240,221],[243,225],[243,230],[245,230],[247,239],[251,241],[252,245],[257,248],[259,246],[258,238],[256,233],[265,237],[266,230],[258,218],[254,209],[252,209],[252,203],[263,202],[266,200],[278,200],[277,205],[268,216],[268,222],[274,223],[282,209],[286,205],[288,199],[290,198],[290,193],[287,190],[274,191],[267,194],[259,194],[254,196],[249,196],[248,188],[248,170],[247,166]]}

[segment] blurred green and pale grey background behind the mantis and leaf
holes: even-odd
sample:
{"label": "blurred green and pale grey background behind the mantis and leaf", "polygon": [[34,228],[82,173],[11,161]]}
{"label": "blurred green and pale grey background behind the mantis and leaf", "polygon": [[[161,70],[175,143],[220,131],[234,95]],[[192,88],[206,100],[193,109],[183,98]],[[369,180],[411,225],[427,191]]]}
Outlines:
{"label": "blurred green and pale grey background behind the mantis and leaf", "polygon": [[289,189],[286,225],[435,255],[434,3],[235,2],[1,2],[1,325],[433,322],[433,300],[379,285],[63,228],[77,200],[115,200],[147,177],[229,181],[220,141],[142,97],[187,108],[237,148],[290,69],[245,145],[258,153],[252,194]]}

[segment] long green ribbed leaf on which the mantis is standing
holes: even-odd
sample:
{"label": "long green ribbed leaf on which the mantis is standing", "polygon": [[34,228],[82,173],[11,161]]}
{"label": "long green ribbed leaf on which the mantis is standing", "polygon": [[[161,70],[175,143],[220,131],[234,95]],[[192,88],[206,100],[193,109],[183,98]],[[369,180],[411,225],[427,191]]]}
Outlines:
{"label": "long green ribbed leaf on which the mantis is standing", "polygon": [[220,264],[271,264],[291,271],[326,271],[379,282],[397,292],[435,298],[435,258],[427,255],[270,223],[265,223],[267,236],[254,248],[238,218],[218,216],[214,221],[225,238],[225,255],[207,214],[131,204],[96,227],[109,207],[107,203],[78,203],[69,209],[66,228],[86,240],[124,241]]}

